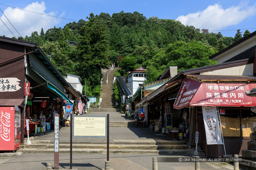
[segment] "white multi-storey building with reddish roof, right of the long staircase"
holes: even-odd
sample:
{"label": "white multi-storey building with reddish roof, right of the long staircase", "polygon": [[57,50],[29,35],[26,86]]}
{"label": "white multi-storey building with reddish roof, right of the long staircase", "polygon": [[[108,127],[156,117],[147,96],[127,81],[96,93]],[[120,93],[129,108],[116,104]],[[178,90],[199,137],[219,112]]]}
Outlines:
{"label": "white multi-storey building with reddish roof, right of the long staircase", "polygon": [[127,87],[130,89],[132,94],[134,95],[135,92],[140,88],[142,84],[145,84],[144,81],[146,81],[146,75],[147,69],[144,69],[143,67],[139,67],[136,70],[129,72],[127,78],[128,82],[126,83]]}

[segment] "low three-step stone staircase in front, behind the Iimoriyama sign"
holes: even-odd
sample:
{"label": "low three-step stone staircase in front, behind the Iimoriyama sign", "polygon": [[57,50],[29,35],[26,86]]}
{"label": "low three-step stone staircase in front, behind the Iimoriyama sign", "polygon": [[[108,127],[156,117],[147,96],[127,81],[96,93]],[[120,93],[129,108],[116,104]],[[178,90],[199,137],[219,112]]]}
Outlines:
{"label": "low three-step stone staircase in front, behind the Iimoriyama sign", "polygon": [[[72,153],[106,153],[106,141],[83,141],[73,142]],[[150,154],[190,154],[195,149],[188,149],[186,141],[111,141],[109,144],[109,153],[150,153]],[[54,142],[50,140],[31,140],[30,145],[25,145],[18,150],[23,153],[54,153]],[[69,153],[70,142],[60,141],[59,152]]]}

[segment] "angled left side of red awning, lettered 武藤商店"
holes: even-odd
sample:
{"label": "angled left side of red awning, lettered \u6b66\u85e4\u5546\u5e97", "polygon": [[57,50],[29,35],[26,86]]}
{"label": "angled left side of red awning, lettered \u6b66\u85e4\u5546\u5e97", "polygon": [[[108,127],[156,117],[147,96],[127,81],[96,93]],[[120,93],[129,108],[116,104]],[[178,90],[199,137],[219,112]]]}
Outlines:
{"label": "angled left side of red awning, lettered \u6b66\u85e4\u5546\u5e97", "polygon": [[190,101],[197,93],[197,90],[200,87],[200,85],[201,83],[198,81],[185,78],[179,89],[179,93],[175,100],[173,108],[179,110],[188,107]]}

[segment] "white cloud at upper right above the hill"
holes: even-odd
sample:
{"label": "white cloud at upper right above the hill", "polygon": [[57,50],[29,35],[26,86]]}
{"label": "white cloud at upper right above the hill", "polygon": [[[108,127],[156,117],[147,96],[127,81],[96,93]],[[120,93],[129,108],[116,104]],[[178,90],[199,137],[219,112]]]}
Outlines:
{"label": "white cloud at upper right above the hill", "polygon": [[218,30],[236,25],[255,14],[256,3],[253,6],[248,6],[248,2],[241,2],[238,6],[231,6],[227,9],[222,8],[220,4],[214,4],[209,5],[203,11],[179,16],[176,20],[199,29]]}

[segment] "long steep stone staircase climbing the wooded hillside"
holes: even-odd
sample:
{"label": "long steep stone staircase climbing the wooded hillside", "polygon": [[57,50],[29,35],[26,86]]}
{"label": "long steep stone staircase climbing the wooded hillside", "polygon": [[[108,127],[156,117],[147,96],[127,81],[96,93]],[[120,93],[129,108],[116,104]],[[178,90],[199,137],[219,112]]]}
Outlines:
{"label": "long steep stone staircase climbing the wooded hillside", "polygon": [[106,85],[107,73],[103,76],[101,93],[100,93],[100,98],[102,98],[102,101],[100,104],[101,109],[115,108],[114,87],[113,87],[112,83],[113,83],[113,77],[114,77],[114,73],[115,73],[116,69],[117,68],[114,68],[113,71],[110,73],[110,75],[108,77],[108,85]]}

